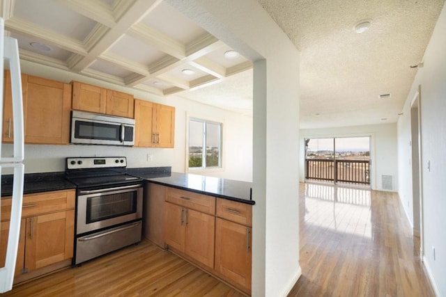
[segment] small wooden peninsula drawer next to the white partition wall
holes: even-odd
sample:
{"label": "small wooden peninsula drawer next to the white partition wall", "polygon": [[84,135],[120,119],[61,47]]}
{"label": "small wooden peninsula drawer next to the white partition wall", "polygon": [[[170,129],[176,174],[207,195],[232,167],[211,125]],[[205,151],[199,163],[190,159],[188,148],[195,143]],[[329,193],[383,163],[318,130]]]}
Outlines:
{"label": "small wooden peninsula drawer next to the white partition wall", "polygon": [[250,204],[217,199],[217,216],[249,227],[252,226],[252,206]]}

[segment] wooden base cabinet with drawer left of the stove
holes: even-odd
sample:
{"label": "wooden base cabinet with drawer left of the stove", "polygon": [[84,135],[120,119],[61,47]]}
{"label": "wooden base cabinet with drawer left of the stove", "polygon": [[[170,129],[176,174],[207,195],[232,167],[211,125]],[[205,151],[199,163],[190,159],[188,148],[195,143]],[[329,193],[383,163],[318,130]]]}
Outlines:
{"label": "wooden base cabinet with drawer left of the stove", "polygon": [[[1,234],[8,233],[11,198],[1,199]],[[24,195],[15,282],[70,265],[73,256],[75,191]],[[4,261],[7,241],[1,241]],[[40,271],[39,271],[40,270]]]}

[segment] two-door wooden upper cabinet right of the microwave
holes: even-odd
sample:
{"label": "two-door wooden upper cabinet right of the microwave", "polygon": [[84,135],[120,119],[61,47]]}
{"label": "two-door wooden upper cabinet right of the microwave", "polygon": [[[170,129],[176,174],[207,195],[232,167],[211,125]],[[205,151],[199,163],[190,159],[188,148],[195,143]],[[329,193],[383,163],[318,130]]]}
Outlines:
{"label": "two-door wooden upper cabinet right of the microwave", "polygon": [[174,147],[175,107],[134,100],[135,146]]}

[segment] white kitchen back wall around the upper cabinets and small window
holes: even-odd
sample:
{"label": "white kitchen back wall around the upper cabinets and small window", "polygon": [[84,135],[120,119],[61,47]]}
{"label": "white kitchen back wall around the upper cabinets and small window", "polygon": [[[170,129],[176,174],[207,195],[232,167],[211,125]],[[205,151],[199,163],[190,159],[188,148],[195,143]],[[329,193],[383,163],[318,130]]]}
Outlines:
{"label": "white kitchen back wall around the upper cabinets and small window", "polygon": [[[193,112],[197,117],[216,118],[225,123],[223,128],[224,168],[210,172],[209,175],[252,181],[252,118],[249,116],[199,104],[178,96],[163,98],[29,61],[21,61],[21,67],[23,73],[67,83],[78,80],[131,93],[135,98],[176,107],[174,149],[105,145],[25,145],[26,173],[63,171],[65,170],[64,158],[67,156],[127,156],[129,168],[171,166],[173,171],[185,172],[186,114]],[[240,127],[243,128],[240,129]],[[3,145],[2,148],[3,156],[12,154],[12,145]],[[153,161],[147,161],[147,154],[153,155]],[[3,170],[3,173],[10,172]],[[200,174],[207,175],[206,172],[200,172]]]}

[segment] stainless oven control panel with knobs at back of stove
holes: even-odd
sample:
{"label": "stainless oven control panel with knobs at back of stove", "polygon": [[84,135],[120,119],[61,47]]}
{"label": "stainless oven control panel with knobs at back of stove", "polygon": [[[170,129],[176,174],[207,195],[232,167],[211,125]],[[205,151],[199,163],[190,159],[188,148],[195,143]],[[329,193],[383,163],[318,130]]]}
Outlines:
{"label": "stainless oven control panel with knobs at back of stove", "polygon": [[116,168],[126,167],[127,159],[125,156],[95,156],[67,158],[66,166],[71,169],[94,169],[94,168]]}

